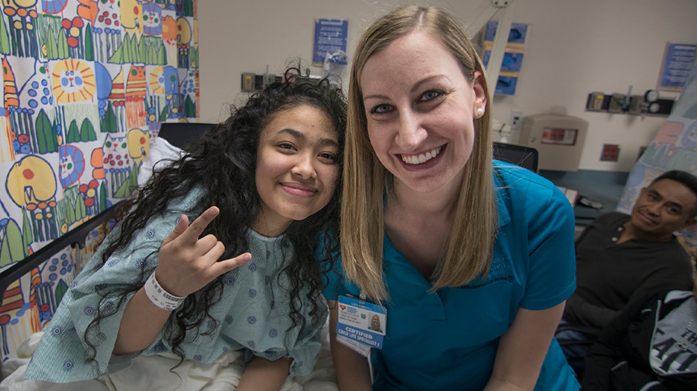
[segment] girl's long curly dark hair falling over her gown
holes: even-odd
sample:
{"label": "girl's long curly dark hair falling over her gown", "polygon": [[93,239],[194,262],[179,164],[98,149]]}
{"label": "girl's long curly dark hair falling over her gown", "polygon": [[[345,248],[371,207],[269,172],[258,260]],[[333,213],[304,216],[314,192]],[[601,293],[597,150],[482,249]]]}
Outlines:
{"label": "girl's long curly dark hair falling over her gown", "polygon": [[[286,72],[287,76],[287,72]],[[167,211],[171,200],[183,197],[194,186],[204,186],[207,191],[198,200],[194,211],[203,212],[215,205],[220,215],[213,220],[202,236],[214,234],[225,245],[221,259],[235,257],[247,251],[245,232],[254,223],[260,211],[259,193],[256,192],[254,173],[256,152],[261,130],[282,111],[301,105],[319,109],[330,118],[339,135],[339,154],[337,164],[342,173],[342,153],[344,150],[344,131],[346,129],[346,99],[340,86],[332,85],[327,79],[312,81],[300,77],[288,77],[289,81],[272,83],[259,93],[255,93],[244,106],[233,108],[230,118],[206,131],[197,142],[199,152],[190,152],[174,161],[169,167],[158,170],[150,181],[137,191],[135,198],[125,202],[124,213],[116,239],[105,242],[102,264],[116,250],[123,249],[137,230],[141,230],[151,217]],[[328,205],[321,211],[302,221],[293,221],[286,230],[286,237],[293,246],[293,259],[282,273],[289,279],[288,289],[291,298],[291,328],[305,326],[306,319],[301,316],[302,291],[306,289],[305,301],[312,306],[309,314],[312,326],[321,327],[326,316],[321,290],[323,289],[324,267],[320,262],[330,262],[333,269],[334,256],[338,253],[338,243],[332,238],[338,235],[339,200],[342,179],[337,179],[337,187]],[[118,214],[118,212],[116,212]],[[333,232],[333,233],[332,233]],[[318,254],[318,249],[323,253]],[[151,256],[156,254],[151,253]],[[320,258],[318,260],[318,258]],[[144,262],[144,265],[147,262]],[[141,271],[138,282],[126,287],[97,287],[102,299],[98,314],[87,328],[84,339],[91,349],[88,362],[95,361],[100,322],[118,311],[125,297],[142,287],[145,277],[153,269]],[[219,276],[198,292],[187,296],[185,302],[173,313],[174,321],[168,322],[165,338],[172,346],[172,352],[184,359],[181,344],[188,330],[199,330],[199,326],[210,317],[208,310],[222,297],[222,278]],[[116,305],[102,306],[107,297],[118,297]],[[102,307],[108,308],[102,310]]]}

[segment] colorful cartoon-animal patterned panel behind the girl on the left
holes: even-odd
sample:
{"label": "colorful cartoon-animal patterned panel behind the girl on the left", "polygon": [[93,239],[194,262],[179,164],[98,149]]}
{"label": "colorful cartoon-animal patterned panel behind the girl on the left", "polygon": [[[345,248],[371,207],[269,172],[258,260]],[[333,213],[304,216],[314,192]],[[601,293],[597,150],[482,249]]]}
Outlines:
{"label": "colorful cartoon-animal patterned panel behind the girl on the left", "polygon": [[[162,122],[199,116],[197,0],[0,0],[0,273],[130,195]],[[40,330],[89,260],[13,282],[0,357]]]}

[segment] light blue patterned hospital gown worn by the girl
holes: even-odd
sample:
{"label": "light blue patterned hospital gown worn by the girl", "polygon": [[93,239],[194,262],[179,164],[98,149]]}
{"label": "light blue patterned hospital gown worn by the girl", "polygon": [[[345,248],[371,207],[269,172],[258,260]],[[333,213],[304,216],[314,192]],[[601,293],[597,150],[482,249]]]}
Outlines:
{"label": "light blue patterned hospital gown worn by the girl", "polygon": [[[146,271],[153,270],[158,262],[160,244],[174,230],[181,213],[190,211],[199,196],[201,190],[197,189],[171,202],[170,212],[151,218],[146,227],[135,232],[130,243],[114,252],[100,269],[102,251],[107,241],[114,239],[117,225],[63,296],[26,369],[25,378],[56,383],[88,380],[128,367],[137,355],[171,353],[171,346],[164,338],[166,325],[155,342],[144,351],[112,356],[127,301],[116,314],[102,319],[101,333],[91,338],[91,341],[100,341],[96,355],[98,364],[85,362],[90,351],[84,342],[84,333],[95,317],[100,300],[95,286],[130,284],[141,278],[143,267]],[[247,231],[247,239],[252,260],[224,276],[223,296],[210,308],[210,315],[215,320],[204,320],[196,335],[192,335],[194,330],[187,333],[185,342],[181,344],[185,359],[210,363],[227,351],[244,349],[247,360],[252,356],[268,360],[293,358],[290,375],[305,376],[312,372],[319,356],[321,330],[312,326],[309,317],[312,305],[306,302],[307,292],[303,290],[300,298],[303,300],[301,314],[305,317],[305,326],[293,328],[286,335],[291,319],[289,294],[284,287],[289,283],[281,271],[293,255],[291,243],[285,235],[263,237],[252,230]],[[143,278],[147,277],[149,273]],[[127,296],[128,300],[133,294],[135,292]],[[117,299],[109,297],[102,303],[102,308],[113,308]],[[173,317],[169,318],[168,324]]]}

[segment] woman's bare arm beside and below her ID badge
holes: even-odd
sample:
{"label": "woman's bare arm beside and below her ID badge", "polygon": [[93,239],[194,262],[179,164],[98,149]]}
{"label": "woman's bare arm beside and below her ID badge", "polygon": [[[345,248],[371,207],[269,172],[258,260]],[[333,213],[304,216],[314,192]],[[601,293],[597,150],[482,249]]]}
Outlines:
{"label": "woman's bare arm beside and below her ID badge", "polygon": [[367,358],[348,349],[337,341],[337,302],[330,300],[329,305],[329,342],[332,349],[332,359],[337,372],[339,390],[372,390],[370,370]]}

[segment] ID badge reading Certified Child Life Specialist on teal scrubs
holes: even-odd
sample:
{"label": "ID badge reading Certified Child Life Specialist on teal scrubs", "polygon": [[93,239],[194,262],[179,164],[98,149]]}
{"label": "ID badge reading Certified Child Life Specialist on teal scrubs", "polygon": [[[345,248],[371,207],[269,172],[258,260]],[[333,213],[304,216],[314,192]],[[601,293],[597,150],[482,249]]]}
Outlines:
{"label": "ID badge reading Certified Child Life Specialist on teal scrubs", "polygon": [[337,336],[371,348],[383,348],[388,317],[386,308],[358,298],[339,296],[338,312]]}

